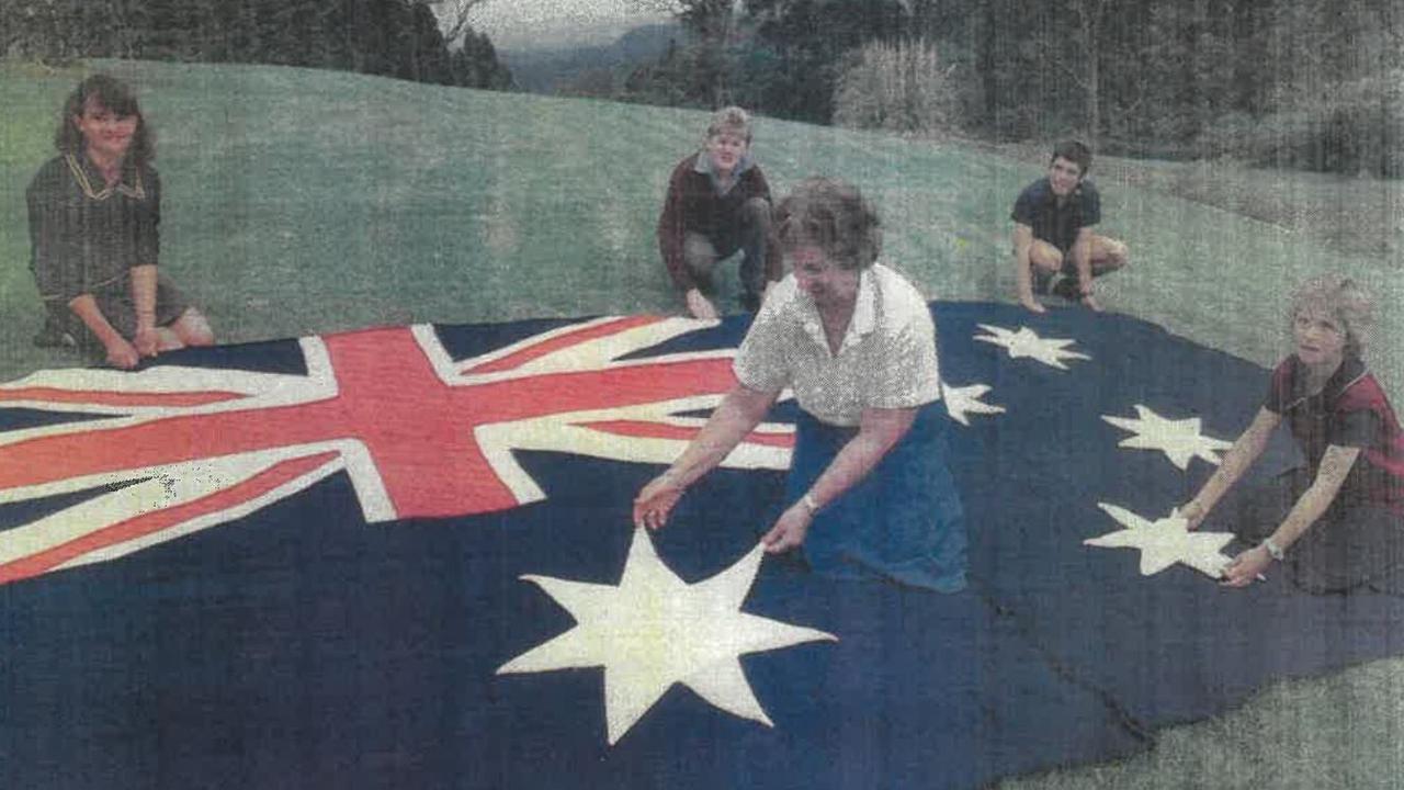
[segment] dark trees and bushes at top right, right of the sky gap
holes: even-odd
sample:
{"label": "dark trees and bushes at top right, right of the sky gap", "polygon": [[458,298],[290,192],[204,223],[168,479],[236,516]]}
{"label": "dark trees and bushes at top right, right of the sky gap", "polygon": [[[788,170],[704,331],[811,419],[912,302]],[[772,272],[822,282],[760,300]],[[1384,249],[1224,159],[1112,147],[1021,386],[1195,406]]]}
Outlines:
{"label": "dark trees and bushes at top right, right of the sky gap", "polygon": [[[852,90],[882,83],[939,104],[920,114],[945,127],[932,132],[1404,176],[1398,0],[635,3],[691,35],[635,69],[621,98],[821,124],[913,117]],[[841,107],[845,96],[868,105]]]}

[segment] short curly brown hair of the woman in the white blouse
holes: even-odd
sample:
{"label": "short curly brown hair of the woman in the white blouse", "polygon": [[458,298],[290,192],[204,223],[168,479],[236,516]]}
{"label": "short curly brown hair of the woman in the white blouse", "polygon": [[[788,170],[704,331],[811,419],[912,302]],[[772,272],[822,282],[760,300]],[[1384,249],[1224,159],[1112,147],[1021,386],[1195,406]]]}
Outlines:
{"label": "short curly brown hair of the woman in the white blouse", "polygon": [[868,268],[882,252],[878,214],[858,187],[833,179],[806,179],[775,209],[781,247],[814,245],[840,268]]}

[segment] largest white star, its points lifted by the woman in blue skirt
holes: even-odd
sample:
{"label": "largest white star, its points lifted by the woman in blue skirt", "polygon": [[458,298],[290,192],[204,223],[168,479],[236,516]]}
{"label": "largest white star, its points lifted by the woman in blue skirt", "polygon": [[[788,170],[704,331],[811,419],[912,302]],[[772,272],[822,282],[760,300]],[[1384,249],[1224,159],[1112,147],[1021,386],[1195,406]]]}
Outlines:
{"label": "largest white star, its points lifted by the woman in blue skirt", "polygon": [[637,530],[619,586],[522,576],[566,607],[576,627],[508,661],[497,673],[604,666],[611,745],[674,683],[727,713],[772,725],[739,656],[837,637],[740,610],[761,557],[757,545],[736,565],[689,585]]}

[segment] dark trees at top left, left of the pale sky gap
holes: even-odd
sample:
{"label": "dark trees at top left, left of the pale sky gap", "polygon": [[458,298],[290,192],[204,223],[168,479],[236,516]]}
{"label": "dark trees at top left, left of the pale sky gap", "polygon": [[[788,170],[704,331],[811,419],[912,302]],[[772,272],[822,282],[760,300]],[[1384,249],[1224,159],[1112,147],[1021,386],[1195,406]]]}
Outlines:
{"label": "dark trees at top left, left of the pale sky gap", "polygon": [[[511,87],[473,0],[441,30],[435,0],[21,0],[0,4],[0,53],[65,62],[140,58],[275,63]],[[445,35],[446,34],[446,35]]]}

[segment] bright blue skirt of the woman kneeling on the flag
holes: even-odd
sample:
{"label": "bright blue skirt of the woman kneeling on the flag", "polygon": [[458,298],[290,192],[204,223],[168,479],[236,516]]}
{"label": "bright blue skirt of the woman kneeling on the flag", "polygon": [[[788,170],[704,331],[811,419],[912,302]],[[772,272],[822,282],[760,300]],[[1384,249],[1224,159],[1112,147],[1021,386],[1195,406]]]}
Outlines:
{"label": "bright blue skirt of the woman kneeling on the flag", "polygon": [[[878,465],[810,524],[804,558],[816,574],[845,579],[890,579],[914,588],[956,592],[966,585],[966,529],[946,468],[945,405],[917,412],[911,430]],[[834,455],[858,434],[800,410],[786,502],[804,495]]]}

